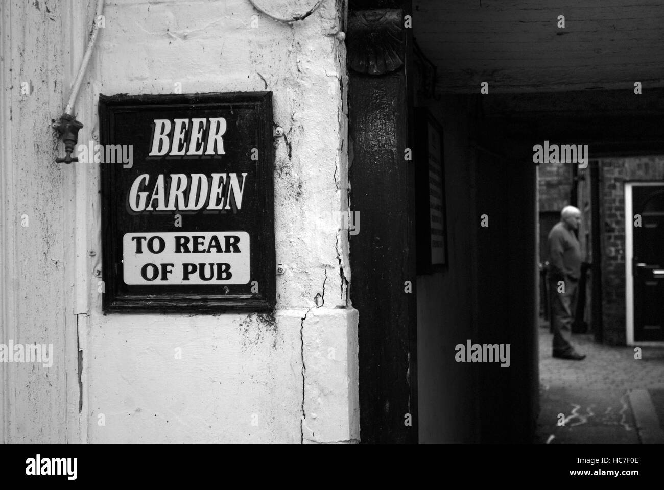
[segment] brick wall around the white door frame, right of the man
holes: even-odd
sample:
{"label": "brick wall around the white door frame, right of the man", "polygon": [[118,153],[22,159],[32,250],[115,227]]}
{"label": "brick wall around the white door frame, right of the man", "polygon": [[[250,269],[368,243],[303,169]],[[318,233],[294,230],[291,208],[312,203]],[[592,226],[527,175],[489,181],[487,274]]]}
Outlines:
{"label": "brick wall around the white door frame, right of the man", "polygon": [[625,182],[664,180],[664,155],[600,160],[604,341],[625,343]]}

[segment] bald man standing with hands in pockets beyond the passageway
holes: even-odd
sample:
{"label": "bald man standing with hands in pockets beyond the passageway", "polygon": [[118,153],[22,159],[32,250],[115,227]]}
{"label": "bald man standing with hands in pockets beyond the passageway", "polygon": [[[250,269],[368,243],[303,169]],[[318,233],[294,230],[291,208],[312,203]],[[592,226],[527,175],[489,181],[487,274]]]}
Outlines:
{"label": "bald man standing with hands in pockets beyond the passageway", "polygon": [[576,352],[570,344],[576,292],[581,272],[581,249],[574,230],[581,222],[581,211],[565,206],[560,222],[548,234],[549,297],[551,327],[553,330],[553,357],[581,361],[585,355]]}

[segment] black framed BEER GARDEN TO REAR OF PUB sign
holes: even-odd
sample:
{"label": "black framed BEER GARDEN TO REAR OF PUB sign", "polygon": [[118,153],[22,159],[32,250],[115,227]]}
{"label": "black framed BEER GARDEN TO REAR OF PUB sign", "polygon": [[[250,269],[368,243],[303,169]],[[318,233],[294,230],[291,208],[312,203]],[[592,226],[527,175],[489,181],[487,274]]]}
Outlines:
{"label": "black framed BEER GARDEN TO REAR OF PUB sign", "polygon": [[270,311],[272,93],[100,96],[104,311]]}

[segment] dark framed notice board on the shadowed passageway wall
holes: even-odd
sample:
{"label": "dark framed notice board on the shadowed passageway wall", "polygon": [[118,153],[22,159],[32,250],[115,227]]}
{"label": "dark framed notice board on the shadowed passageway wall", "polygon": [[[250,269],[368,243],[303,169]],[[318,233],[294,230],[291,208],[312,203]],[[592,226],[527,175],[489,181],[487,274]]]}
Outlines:
{"label": "dark framed notice board on the shadowed passageway wall", "polygon": [[443,129],[429,110],[415,110],[415,187],[418,274],[448,263]]}

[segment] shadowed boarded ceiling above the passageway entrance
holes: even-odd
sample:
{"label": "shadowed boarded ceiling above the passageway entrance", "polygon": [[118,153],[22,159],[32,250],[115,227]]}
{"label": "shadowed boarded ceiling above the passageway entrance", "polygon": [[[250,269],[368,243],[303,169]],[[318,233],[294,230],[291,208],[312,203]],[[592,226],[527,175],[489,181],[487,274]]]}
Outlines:
{"label": "shadowed boarded ceiling above the passageway entrance", "polygon": [[413,0],[413,33],[438,93],[664,87],[663,1]]}

